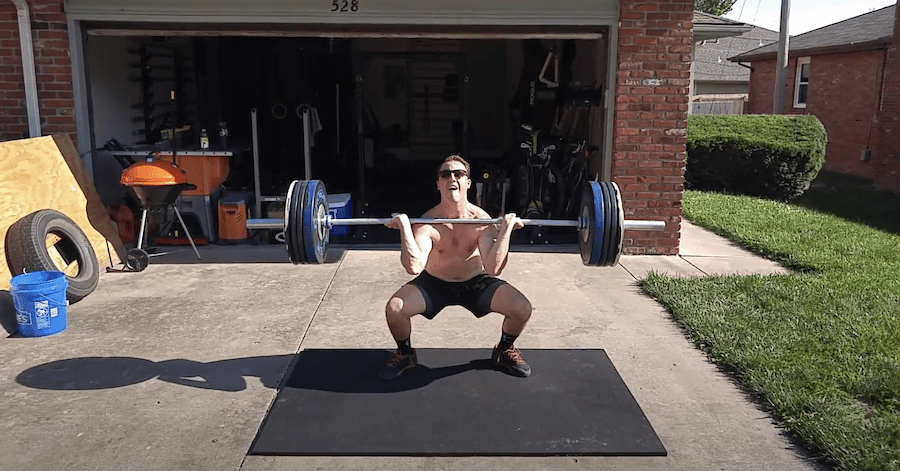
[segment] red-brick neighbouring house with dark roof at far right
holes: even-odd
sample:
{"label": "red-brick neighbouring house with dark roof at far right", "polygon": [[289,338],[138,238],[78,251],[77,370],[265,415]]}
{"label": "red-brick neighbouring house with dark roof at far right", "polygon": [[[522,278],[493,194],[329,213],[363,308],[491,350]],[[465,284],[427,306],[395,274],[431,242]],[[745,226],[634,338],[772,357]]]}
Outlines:
{"label": "red-brick neighbouring house with dark roof at far right", "polygon": [[[815,115],[825,168],[900,191],[900,14],[896,5],[790,38],[784,113]],[[772,113],[778,44],[728,59],[751,63],[749,113]]]}

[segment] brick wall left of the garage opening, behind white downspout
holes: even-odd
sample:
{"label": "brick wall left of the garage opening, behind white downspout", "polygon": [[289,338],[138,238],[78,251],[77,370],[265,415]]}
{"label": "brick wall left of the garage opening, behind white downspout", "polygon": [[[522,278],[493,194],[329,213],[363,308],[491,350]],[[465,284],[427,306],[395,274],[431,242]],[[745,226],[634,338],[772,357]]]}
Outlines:
{"label": "brick wall left of the garage opening, behind white downspout", "polygon": [[[69,36],[62,2],[29,0],[41,133],[75,135]],[[28,137],[22,49],[15,5],[0,1],[0,141]]]}

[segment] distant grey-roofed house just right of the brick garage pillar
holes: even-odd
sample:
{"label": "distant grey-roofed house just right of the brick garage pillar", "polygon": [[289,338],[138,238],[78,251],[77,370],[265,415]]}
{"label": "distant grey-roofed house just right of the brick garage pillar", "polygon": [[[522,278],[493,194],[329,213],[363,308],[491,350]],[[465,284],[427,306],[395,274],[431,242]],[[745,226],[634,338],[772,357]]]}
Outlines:
{"label": "distant grey-roofed house just right of the brick garage pillar", "polygon": [[[700,39],[698,29],[724,30],[728,36]],[[734,32],[739,32],[734,36]],[[741,114],[750,90],[750,67],[729,57],[778,41],[778,32],[727,18],[694,12],[694,93],[691,112],[695,114]]]}

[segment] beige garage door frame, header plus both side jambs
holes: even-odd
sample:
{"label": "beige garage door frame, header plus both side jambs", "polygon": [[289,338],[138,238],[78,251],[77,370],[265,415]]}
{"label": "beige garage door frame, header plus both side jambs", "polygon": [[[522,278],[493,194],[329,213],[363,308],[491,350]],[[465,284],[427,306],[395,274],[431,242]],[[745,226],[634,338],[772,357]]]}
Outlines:
{"label": "beige garage door frame, header plus both side jambs", "polygon": [[[80,68],[80,33],[89,36],[223,36],[432,39],[603,38],[614,47],[617,0],[65,0],[73,70]],[[602,31],[602,32],[601,32]],[[611,57],[611,52],[607,57]],[[614,79],[608,69],[606,83]],[[86,86],[74,77],[76,100],[87,109]],[[604,82],[604,80],[600,80]],[[607,98],[608,100],[608,98]],[[604,110],[611,122],[612,108]],[[85,113],[78,119],[79,151],[92,143]],[[608,177],[611,128],[602,126],[602,174]],[[86,162],[88,166],[90,161]]]}

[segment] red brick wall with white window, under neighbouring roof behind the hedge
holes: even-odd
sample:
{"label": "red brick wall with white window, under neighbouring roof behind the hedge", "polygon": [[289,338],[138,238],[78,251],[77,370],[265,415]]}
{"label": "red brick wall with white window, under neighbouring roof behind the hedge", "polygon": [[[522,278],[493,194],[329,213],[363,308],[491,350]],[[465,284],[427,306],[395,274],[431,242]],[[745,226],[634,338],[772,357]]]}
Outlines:
{"label": "red brick wall with white window, under neighbouring roof behind the hedge", "polygon": [[[874,166],[860,157],[872,149],[884,50],[810,56],[806,108],[794,108],[797,58],[788,61],[784,113],[811,114],[828,133],[825,169],[874,178]],[[754,61],[750,80],[750,113],[769,114],[775,104],[775,60]]]}

